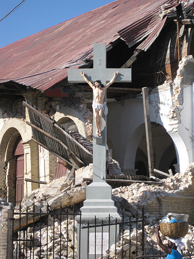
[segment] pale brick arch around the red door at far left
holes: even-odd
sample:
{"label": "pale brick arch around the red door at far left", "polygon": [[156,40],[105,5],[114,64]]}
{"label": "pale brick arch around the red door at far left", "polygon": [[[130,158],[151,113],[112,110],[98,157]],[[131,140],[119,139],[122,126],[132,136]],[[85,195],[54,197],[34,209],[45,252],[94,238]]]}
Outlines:
{"label": "pale brick arch around the red door at far left", "polygon": [[26,126],[23,121],[10,119],[0,131],[0,194],[15,204],[16,160],[14,147],[21,136],[26,140]]}

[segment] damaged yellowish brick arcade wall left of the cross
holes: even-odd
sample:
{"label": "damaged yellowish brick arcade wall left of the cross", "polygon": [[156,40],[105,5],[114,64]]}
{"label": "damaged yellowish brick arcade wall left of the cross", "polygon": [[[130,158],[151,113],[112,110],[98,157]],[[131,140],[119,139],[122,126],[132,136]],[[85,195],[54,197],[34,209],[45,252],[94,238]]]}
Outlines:
{"label": "damaged yellowish brick arcade wall left of the cross", "polygon": [[[91,138],[92,113],[86,108],[83,98],[47,98],[38,91],[29,91],[27,100],[53,119],[71,118],[81,133]],[[54,177],[57,158],[31,140],[32,129],[28,109],[22,105],[24,98],[3,98],[0,102],[0,197],[15,204],[16,159],[14,147],[17,138],[22,138],[24,147],[24,196],[39,188],[36,182],[26,182],[25,178],[36,181],[50,181]],[[56,120],[57,121],[57,120]]]}

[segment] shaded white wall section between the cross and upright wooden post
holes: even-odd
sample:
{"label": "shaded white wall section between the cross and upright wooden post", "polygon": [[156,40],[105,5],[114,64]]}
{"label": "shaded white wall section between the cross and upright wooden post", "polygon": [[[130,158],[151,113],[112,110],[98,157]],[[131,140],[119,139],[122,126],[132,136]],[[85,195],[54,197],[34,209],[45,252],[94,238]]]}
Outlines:
{"label": "shaded white wall section between the cross and upright wooden post", "polygon": [[[140,127],[138,132],[135,130],[144,123],[143,100],[129,99],[110,103],[108,106],[107,134],[113,143],[115,159],[119,161],[121,168],[132,169],[142,129]],[[131,159],[125,159],[126,156]]]}

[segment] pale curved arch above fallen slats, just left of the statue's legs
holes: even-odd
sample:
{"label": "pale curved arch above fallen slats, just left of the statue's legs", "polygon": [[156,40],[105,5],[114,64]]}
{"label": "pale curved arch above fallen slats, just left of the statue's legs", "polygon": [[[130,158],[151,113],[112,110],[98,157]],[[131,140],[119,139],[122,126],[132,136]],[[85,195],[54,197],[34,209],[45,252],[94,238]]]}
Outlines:
{"label": "pale curved arch above fallen slats, just left of the statue's legs", "polygon": [[69,119],[74,121],[74,123],[76,124],[76,126],[78,128],[79,133],[84,138],[87,138],[87,127],[86,127],[86,124],[85,124],[86,120],[83,118],[81,113],[79,113],[78,111],[76,111],[72,108],[63,107],[55,113],[54,120],[59,121],[64,117],[68,117]]}

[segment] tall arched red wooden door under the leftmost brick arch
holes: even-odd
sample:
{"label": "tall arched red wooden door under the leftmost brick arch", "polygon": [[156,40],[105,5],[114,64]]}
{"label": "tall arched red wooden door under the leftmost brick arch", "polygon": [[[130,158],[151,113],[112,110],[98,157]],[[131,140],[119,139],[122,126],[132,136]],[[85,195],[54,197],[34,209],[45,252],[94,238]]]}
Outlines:
{"label": "tall arched red wooden door under the leftmost brick arch", "polygon": [[16,205],[18,205],[24,197],[24,149],[21,144],[22,139],[16,145]]}

